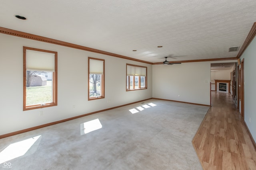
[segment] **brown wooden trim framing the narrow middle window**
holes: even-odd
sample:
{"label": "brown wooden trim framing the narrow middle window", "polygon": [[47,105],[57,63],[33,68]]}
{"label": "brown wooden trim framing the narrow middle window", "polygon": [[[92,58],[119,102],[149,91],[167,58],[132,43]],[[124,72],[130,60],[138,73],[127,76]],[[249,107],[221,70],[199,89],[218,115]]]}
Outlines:
{"label": "brown wooden trim framing the narrow middle window", "polygon": [[[102,95],[98,97],[91,97],[91,98],[90,98],[90,59],[103,61],[103,75],[101,76],[101,84],[100,84]],[[97,100],[97,99],[103,99],[103,98],[105,98],[105,60],[88,57],[88,100]]]}

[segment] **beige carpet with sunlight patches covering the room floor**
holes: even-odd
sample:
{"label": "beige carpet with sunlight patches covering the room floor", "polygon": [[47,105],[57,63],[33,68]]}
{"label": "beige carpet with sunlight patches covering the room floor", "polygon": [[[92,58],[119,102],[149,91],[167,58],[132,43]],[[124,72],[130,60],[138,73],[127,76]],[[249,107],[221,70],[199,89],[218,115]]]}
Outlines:
{"label": "beige carpet with sunlight patches covering the room floor", "polygon": [[152,99],[0,139],[0,169],[202,170],[192,139],[208,108]]}

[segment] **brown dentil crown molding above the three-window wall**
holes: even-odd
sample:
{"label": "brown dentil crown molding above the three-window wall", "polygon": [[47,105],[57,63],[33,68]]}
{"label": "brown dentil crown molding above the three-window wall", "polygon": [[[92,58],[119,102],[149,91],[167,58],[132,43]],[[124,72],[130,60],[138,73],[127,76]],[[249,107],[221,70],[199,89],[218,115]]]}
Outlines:
{"label": "brown dentil crown molding above the three-window wall", "polygon": [[101,50],[97,50],[97,49],[93,49],[93,48],[89,48],[89,47],[84,47],[82,45],[67,43],[67,42],[64,42],[64,41],[59,41],[59,40],[56,40],[56,39],[42,37],[42,36],[39,36],[39,35],[34,35],[34,34],[30,34],[30,33],[16,31],[16,30],[4,28],[4,27],[0,27],[0,33],[13,35],[13,36],[17,36],[17,37],[22,37],[22,38],[27,38],[27,39],[33,39],[33,40],[42,41],[42,42],[45,42],[45,43],[52,43],[52,44],[56,44],[56,45],[62,45],[62,46],[70,47],[70,48],[74,48],[74,49],[90,51],[90,52],[93,52],[93,53],[109,55],[109,56],[118,57],[118,58],[121,58],[121,59],[127,59],[127,60],[132,60],[132,61],[138,61],[138,62],[141,62],[141,63],[152,64],[151,62],[148,62],[148,61],[134,59],[134,58],[131,58],[131,57],[126,57],[126,56],[118,55],[118,54],[115,54],[115,53],[109,53],[109,52],[106,52],[106,51],[101,51]]}

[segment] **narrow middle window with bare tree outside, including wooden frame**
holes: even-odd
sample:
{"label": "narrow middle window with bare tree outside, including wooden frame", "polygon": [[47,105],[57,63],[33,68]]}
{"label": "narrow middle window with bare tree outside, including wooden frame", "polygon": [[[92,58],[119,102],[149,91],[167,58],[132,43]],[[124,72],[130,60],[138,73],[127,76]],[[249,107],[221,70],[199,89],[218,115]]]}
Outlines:
{"label": "narrow middle window with bare tree outside, including wooden frame", "polygon": [[88,100],[104,98],[105,60],[88,57]]}

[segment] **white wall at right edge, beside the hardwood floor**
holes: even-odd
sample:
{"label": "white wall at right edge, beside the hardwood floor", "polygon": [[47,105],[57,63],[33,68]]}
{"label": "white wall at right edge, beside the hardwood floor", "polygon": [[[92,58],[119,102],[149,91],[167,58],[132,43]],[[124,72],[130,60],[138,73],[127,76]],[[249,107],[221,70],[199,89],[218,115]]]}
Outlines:
{"label": "white wall at right edge, beside the hardwood floor", "polygon": [[[248,126],[254,141],[256,141],[256,38],[244,51],[244,121]],[[251,122],[250,122],[251,119]]]}

